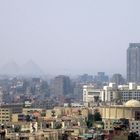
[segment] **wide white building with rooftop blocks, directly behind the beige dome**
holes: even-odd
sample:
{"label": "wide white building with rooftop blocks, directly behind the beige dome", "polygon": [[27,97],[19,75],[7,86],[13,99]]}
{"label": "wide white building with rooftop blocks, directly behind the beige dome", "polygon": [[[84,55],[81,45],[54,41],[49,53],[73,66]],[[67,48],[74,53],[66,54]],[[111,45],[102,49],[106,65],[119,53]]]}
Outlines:
{"label": "wide white building with rooftop blocks, directly behind the beige dome", "polygon": [[131,99],[140,101],[140,86],[136,83],[118,86],[110,83],[108,86],[104,86],[101,92],[101,100],[103,102],[120,100],[122,103],[125,103]]}

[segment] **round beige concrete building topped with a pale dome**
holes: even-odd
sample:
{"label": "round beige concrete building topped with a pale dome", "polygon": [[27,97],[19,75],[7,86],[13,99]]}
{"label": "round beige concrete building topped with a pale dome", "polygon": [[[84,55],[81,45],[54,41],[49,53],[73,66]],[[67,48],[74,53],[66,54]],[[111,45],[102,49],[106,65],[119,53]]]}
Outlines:
{"label": "round beige concrete building topped with a pale dome", "polygon": [[122,118],[140,121],[140,102],[130,100],[124,105],[102,106],[101,114],[105,129],[113,129],[113,122]]}

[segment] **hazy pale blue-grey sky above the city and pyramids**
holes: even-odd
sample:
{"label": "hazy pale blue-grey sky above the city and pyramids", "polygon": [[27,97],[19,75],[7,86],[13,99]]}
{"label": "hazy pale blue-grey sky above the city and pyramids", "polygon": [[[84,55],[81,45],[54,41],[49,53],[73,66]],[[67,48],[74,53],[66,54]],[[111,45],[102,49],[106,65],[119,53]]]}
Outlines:
{"label": "hazy pale blue-grey sky above the city and pyramids", "polygon": [[140,42],[140,0],[0,0],[0,66],[34,60],[48,74],[126,71]]}

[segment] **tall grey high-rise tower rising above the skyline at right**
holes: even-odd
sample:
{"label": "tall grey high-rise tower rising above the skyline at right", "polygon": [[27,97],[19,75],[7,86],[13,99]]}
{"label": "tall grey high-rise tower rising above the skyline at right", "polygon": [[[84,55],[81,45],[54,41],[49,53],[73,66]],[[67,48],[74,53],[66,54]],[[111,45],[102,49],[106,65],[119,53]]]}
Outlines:
{"label": "tall grey high-rise tower rising above the skyline at right", "polygon": [[140,83],[140,43],[130,43],[127,49],[127,81]]}

